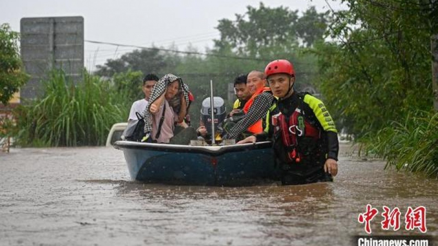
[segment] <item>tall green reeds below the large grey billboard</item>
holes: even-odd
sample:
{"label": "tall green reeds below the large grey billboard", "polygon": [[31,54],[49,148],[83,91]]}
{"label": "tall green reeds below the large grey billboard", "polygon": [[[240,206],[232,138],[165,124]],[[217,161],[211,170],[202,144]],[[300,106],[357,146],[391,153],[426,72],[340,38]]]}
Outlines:
{"label": "tall green reeds below the large grey billboard", "polygon": [[109,129],[125,121],[126,109],[116,104],[109,82],[84,72],[76,86],[63,71],[52,71],[44,96],[15,111],[16,140],[21,145],[104,145]]}

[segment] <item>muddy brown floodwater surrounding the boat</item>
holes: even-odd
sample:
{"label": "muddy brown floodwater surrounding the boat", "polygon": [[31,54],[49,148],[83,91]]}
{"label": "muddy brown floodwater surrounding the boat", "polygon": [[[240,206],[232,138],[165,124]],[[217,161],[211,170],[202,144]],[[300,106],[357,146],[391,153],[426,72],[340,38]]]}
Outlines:
{"label": "muddy brown floodwater surrounding the boat", "polygon": [[[206,187],[131,181],[119,150],[11,149],[0,153],[0,245],[350,245],[379,210],[372,235],[438,232],[438,181],[383,170],[343,145],[332,183]],[[381,229],[382,206],[401,229]],[[427,233],[405,230],[408,206],[427,208]]]}

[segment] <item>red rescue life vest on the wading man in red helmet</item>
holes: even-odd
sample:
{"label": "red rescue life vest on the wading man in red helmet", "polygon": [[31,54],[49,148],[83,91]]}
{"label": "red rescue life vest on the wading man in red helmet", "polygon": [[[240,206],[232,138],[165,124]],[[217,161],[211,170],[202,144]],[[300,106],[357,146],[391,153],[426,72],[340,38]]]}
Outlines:
{"label": "red rescue life vest on the wading man in red helmet", "polygon": [[[321,140],[321,128],[312,124],[305,115],[305,111],[301,105],[304,103],[299,97],[299,105],[290,117],[279,112],[271,116],[272,126],[274,127],[274,134],[280,131],[281,141],[286,148],[286,156],[289,162],[300,163],[305,157],[304,149],[309,142],[314,144]],[[310,112],[307,112],[308,114]],[[306,143],[304,139],[307,139]],[[310,140],[310,141],[309,141]],[[313,141],[312,141],[313,140]]]}

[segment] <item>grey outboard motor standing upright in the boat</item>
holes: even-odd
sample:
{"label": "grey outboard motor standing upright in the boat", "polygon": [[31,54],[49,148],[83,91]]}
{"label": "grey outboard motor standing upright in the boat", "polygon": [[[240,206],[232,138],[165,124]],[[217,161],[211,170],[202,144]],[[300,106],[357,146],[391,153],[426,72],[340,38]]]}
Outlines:
{"label": "grey outboard motor standing upright in the boat", "polygon": [[[215,115],[215,130],[222,131],[222,122],[226,116],[226,108],[223,99],[219,96],[214,96],[214,115]],[[207,132],[212,133],[212,116],[211,116],[211,108],[210,108],[210,97],[205,98],[202,101],[201,108],[201,120],[204,123]]]}

